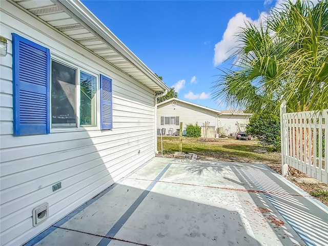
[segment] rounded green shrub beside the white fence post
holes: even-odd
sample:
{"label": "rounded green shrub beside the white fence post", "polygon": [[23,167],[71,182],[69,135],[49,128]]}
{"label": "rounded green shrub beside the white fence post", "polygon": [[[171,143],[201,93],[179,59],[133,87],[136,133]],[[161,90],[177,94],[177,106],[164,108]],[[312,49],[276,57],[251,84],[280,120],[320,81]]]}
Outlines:
{"label": "rounded green shrub beside the white fence post", "polygon": [[250,118],[247,134],[259,139],[262,146],[273,151],[280,150],[280,117],[269,111],[262,111]]}

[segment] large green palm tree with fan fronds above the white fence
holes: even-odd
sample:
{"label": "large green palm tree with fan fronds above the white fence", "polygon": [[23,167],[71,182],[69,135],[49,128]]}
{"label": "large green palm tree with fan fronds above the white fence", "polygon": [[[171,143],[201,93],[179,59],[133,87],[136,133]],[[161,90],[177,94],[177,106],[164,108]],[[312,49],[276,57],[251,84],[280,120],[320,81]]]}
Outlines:
{"label": "large green palm tree with fan fronds above the white fence", "polygon": [[251,112],[328,108],[328,2],[298,0],[271,10],[259,26],[237,34],[231,69],[213,87],[215,97]]}

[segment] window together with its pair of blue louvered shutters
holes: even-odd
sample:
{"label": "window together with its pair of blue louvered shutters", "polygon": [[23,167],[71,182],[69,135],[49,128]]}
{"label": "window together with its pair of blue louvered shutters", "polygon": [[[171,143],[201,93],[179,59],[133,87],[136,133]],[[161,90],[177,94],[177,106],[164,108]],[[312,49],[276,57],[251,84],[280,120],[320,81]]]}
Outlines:
{"label": "window together with its pair of blue louvered shutters", "polygon": [[113,129],[110,77],[16,33],[12,48],[13,135]]}

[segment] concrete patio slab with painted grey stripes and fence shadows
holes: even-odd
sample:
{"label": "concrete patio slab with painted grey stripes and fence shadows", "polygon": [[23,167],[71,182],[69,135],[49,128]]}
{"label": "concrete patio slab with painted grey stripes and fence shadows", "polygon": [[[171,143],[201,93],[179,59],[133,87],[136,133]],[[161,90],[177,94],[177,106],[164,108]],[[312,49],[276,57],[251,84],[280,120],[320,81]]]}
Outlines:
{"label": "concrete patio slab with painted grey stripes and fence shadows", "polygon": [[26,245],[328,245],[328,212],[262,164],[153,158]]}

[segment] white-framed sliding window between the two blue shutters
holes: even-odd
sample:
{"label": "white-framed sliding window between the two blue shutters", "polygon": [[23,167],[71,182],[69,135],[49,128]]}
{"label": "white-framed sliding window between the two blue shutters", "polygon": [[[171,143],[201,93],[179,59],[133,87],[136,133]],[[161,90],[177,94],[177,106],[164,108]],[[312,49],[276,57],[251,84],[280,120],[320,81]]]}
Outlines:
{"label": "white-framed sliding window between the two blue shutters", "polygon": [[97,76],[51,60],[51,128],[97,126]]}

